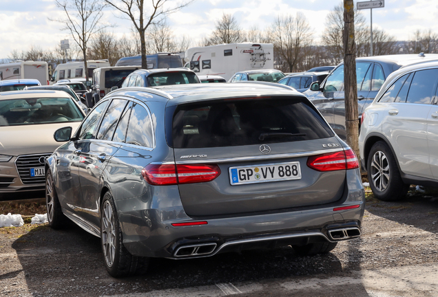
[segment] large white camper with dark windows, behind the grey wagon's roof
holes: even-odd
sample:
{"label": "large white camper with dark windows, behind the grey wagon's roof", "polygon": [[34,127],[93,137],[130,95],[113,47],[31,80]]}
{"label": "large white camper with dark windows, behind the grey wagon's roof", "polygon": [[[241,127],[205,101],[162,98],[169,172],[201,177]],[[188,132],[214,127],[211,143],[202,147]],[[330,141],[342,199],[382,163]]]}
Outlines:
{"label": "large white camper with dark windows, behind the grey wagon's roof", "polygon": [[243,70],[273,69],[272,43],[229,43],[191,47],[185,67],[198,75],[218,75],[229,80]]}

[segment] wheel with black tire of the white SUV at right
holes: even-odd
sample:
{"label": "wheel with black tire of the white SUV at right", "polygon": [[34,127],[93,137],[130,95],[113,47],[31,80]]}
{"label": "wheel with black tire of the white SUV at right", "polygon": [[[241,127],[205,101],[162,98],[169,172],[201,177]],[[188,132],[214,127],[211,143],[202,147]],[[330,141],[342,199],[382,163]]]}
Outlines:
{"label": "wheel with black tire of the white SUV at right", "polygon": [[376,142],[368,154],[368,181],[374,196],[382,201],[397,201],[406,197],[409,185],[400,176],[393,152],[386,142]]}

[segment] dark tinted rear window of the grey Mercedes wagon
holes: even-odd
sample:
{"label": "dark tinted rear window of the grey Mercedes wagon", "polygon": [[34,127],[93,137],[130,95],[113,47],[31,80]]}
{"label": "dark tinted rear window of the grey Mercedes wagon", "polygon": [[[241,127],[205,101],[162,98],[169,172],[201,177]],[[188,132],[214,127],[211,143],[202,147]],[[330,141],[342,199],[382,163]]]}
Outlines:
{"label": "dark tinted rear window of the grey Mercedes wagon", "polygon": [[[174,148],[295,142],[332,137],[306,98],[227,99],[180,104],[171,129]],[[168,135],[170,136],[170,135]]]}

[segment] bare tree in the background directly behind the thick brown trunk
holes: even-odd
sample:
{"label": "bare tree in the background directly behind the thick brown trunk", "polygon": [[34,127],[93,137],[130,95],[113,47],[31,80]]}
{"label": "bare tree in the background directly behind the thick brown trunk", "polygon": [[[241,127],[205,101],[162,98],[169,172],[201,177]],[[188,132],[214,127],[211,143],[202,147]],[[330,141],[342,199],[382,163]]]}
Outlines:
{"label": "bare tree in the background directly behind the thick brown trunk", "polygon": [[[364,45],[368,44],[369,34],[366,21],[362,13],[354,10],[355,43],[357,56],[364,56]],[[336,5],[328,13],[325,20],[325,30],[322,34],[322,44],[328,47],[332,56],[331,64],[339,64],[344,58],[343,34],[344,32],[344,5]],[[369,46],[368,46],[369,50]]]}

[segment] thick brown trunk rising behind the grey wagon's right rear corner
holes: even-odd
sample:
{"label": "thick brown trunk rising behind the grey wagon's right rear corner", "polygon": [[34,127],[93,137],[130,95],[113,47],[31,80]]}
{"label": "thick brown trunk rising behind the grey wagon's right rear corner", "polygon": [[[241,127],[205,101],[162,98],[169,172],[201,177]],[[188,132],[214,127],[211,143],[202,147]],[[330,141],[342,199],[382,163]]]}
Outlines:
{"label": "thick brown trunk rising behind the grey wagon's right rear corner", "polygon": [[357,111],[356,44],[353,0],[344,0],[344,83],[347,144],[359,157],[359,118]]}

